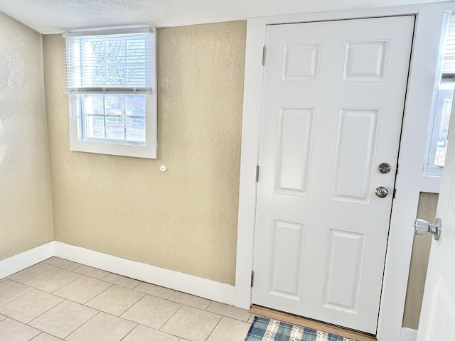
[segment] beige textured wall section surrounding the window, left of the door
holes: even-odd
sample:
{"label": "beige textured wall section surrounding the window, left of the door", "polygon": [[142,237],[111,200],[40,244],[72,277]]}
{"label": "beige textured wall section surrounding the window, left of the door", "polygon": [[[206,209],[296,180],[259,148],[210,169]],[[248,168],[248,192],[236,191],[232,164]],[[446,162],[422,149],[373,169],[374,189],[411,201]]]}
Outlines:
{"label": "beige textured wall section surrounding the window, left of the door", "polygon": [[44,36],[56,240],[235,283],[245,36],[158,30],[157,160],[69,150],[63,38]]}

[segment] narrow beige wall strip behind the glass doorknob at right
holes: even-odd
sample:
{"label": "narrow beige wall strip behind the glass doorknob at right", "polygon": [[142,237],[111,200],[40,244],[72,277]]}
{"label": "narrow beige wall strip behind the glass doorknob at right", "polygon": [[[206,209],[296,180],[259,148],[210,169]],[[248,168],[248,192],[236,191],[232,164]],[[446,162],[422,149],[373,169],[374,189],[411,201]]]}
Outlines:
{"label": "narrow beige wall strip behind the glass doorknob at right", "polygon": [[[434,222],[438,195],[434,193],[420,193],[417,218]],[[427,267],[429,249],[432,244],[432,234],[421,234],[414,236],[412,245],[410,276],[407,283],[405,314],[403,316],[403,327],[416,329],[419,327],[420,309],[424,295],[425,278],[427,278]]]}

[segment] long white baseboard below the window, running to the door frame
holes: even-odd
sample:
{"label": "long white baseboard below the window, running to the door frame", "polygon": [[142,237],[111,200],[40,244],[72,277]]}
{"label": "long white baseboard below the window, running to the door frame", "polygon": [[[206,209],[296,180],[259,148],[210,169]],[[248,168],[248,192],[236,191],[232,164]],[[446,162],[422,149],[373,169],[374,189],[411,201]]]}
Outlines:
{"label": "long white baseboard below the window, running to the door frame", "polygon": [[54,255],[139,281],[208,298],[212,301],[229,305],[235,303],[235,286],[229,284],[103,254],[83,247],[75,247],[63,242],[54,242]]}

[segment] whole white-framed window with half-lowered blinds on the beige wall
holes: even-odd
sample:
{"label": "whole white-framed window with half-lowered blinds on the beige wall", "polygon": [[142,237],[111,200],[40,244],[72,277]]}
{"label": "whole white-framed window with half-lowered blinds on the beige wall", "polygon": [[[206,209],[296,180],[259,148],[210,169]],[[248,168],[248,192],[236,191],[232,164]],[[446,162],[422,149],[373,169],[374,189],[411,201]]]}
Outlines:
{"label": "whole white-framed window with half-lowered blinds on the beige wall", "polygon": [[156,158],[154,30],[63,36],[70,150]]}

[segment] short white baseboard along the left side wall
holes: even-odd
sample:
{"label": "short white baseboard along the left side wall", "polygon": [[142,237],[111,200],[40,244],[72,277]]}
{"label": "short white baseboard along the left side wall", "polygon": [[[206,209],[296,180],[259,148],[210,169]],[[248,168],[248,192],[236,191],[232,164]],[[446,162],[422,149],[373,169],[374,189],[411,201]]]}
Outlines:
{"label": "short white baseboard along the left side wall", "polygon": [[54,255],[54,242],[48,242],[0,261],[0,278],[35,265]]}

